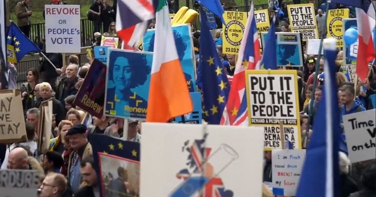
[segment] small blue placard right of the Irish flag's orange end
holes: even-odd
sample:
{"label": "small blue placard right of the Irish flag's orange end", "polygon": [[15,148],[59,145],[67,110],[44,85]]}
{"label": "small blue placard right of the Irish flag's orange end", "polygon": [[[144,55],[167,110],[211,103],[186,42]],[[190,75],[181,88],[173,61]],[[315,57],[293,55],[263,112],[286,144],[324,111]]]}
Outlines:
{"label": "small blue placard right of the Irish flag's orange end", "polygon": [[193,103],[193,111],[182,116],[175,117],[176,123],[186,123],[186,124],[201,124],[202,123],[202,112],[201,112],[201,93],[200,92],[190,92],[190,98]]}

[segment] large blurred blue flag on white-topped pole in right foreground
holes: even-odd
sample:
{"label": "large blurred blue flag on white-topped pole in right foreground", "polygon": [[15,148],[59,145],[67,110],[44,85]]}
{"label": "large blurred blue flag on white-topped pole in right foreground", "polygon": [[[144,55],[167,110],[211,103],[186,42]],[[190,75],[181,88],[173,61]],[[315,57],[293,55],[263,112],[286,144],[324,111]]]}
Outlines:
{"label": "large blurred blue flag on white-topped pole in right foreground", "polygon": [[[325,83],[296,197],[339,197],[339,109],[335,39],[324,40]],[[314,180],[314,181],[313,181]]]}

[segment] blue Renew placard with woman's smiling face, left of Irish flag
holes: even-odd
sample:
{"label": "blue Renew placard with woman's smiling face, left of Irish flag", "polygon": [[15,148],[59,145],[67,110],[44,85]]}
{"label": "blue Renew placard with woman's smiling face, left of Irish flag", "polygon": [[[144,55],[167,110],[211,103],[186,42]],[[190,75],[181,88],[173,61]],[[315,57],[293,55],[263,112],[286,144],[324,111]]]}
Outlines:
{"label": "blue Renew placard with woman's smiling face, left of Irish flag", "polygon": [[108,49],[104,115],[145,119],[153,54]]}

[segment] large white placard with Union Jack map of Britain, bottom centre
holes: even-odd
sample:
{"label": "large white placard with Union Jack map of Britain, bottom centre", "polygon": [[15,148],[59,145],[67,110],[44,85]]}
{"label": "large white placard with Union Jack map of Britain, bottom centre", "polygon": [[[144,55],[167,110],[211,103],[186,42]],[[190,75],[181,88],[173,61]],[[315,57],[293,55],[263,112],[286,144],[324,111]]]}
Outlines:
{"label": "large white placard with Union Jack map of Britain, bottom centre", "polygon": [[142,131],[140,197],[199,191],[203,197],[261,197],[262,128],[143,123]]}

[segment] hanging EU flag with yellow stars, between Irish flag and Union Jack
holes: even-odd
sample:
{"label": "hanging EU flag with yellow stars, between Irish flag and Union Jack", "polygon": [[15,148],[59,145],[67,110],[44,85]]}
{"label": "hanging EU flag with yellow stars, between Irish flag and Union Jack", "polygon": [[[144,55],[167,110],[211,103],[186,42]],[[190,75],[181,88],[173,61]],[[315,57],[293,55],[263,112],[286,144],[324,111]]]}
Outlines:
{"label": "hanging EU flag with yellow stars, between Irish flag and Union Jack", "polygon": [[209,124],[219,124],[230,91],[226,69],[219,59],[213,37],[209,32],[206,12],[200,8],[200,61],[197,84],[202,89],[204,117]]}

